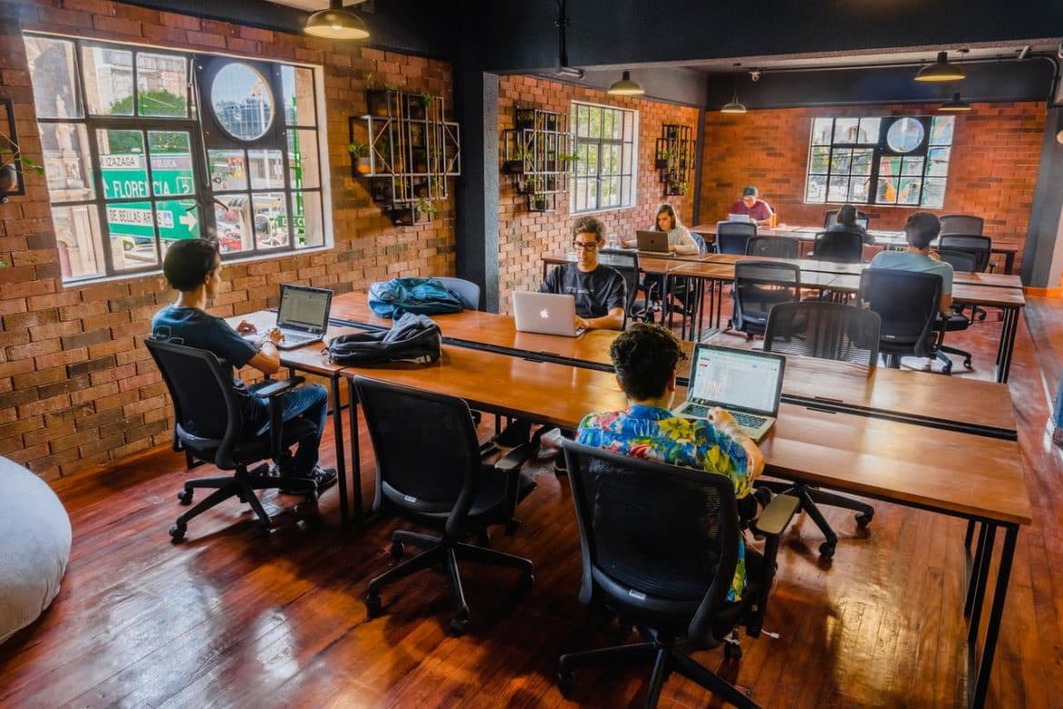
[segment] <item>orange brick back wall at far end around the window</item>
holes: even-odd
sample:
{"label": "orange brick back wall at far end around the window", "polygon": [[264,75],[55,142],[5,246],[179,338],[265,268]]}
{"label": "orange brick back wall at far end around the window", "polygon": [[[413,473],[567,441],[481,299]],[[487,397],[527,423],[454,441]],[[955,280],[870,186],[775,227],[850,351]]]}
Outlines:
{"label": "orange brick back wall at far end around the window", "polygon": [[[938,104],[826,106],[707,113],[701,214],[724,219],[745,185],[757,185],[789,224],[822,224],[837,205],[805,204],[812,119],[819,116],[930,116]],[[1045,128],[1044,103],[975,103],[956,114],[945,205],[935,214],[973,214],[985,219],[995,242],[1023,244],[1033,205]],[[899,230],[913,207],[861,207],[872,229]],[[1022,263],[1022,253],[1016,258]]]}

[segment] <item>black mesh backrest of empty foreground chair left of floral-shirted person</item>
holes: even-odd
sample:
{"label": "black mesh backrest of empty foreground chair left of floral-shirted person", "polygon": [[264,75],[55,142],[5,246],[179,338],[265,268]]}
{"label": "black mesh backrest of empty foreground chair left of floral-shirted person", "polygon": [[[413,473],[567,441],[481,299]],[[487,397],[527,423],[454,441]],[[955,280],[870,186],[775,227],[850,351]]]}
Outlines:
{"label": "black mesh backrest of empty foreground chair left of floral-shirted person", "polygon": [[383,480],[422,509],[450,511],[479,472],[469,406],[460,399],[355,377]]}

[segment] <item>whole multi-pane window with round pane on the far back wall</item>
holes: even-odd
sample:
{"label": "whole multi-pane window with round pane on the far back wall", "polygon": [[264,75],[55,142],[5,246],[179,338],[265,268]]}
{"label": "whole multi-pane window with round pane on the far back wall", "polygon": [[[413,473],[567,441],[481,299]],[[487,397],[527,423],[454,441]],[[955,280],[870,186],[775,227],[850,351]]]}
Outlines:
{"label": "whole multi-pane window with round pane on the far back wall", "polygon": [[942,207],[955,120],[814,119],[805,201]]}

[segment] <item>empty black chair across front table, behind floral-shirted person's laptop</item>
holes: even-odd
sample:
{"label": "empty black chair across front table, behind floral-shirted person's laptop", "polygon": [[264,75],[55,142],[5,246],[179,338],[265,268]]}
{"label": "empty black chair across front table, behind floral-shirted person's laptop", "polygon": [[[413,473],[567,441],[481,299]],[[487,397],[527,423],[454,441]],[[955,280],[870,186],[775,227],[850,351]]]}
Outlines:
{"label": "empty black chair across front table, behind floral-shirted person's laptop", "polygon": [[[881,319],[873,310],[828,301],[780,303],[772,308],[764,332],[764,352],[796,354],[822,359],[836,359],[866,367],[878,361],[878,340]],[[775,483],[757,480],[756,485],[800,501],[799,509],[808,512],[826,540],[820,544],[824,559],[834,556],[838,535],[820,511],[819,505],[850,509],[857,513],[857,526],[871,524],[875,508],[851,497],[826,492],[802,482]]]}

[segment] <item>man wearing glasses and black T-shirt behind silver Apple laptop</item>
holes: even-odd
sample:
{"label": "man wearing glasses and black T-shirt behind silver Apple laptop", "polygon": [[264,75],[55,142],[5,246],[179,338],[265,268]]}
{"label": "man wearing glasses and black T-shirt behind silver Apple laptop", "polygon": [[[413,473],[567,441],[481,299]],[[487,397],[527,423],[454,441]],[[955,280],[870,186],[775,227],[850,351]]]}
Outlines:
{"label": "man wearing glasses and black T-shirt behind silver Apple laptop", "polygon": [[558,266],[539,286],[541,293],[566,293],[576,299],[576,327],[623,330],[627,285],[615,269],[598,264],[605,246],[605,226],[583,217],[572,227],[576,263]]}

